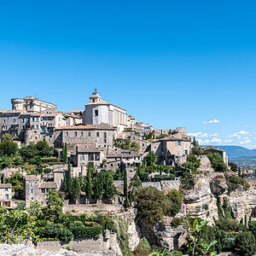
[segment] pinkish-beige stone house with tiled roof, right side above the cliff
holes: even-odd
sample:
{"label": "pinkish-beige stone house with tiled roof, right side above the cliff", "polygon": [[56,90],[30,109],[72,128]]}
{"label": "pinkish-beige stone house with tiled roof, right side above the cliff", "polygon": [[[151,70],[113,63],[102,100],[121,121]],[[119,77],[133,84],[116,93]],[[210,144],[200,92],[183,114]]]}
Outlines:
{"label": "pinkish-beige stone house with tiled roof, right side above the cliff", "polygon": [[183,164],[191,153],[191,139],[187,135],[177,133],[154,140],[151,150],[168,165]]}

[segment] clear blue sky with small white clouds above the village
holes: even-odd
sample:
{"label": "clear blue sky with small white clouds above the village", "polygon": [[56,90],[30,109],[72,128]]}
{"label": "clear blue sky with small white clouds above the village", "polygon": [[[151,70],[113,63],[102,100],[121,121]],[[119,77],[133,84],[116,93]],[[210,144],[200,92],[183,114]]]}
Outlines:
{"label": "clear blue sky with small white clouds above the village", "polygon": [[97,87],[138,121],[256,148],[255,12],[236,0],[0,1],[0,109],[23,96],[84,109]]}

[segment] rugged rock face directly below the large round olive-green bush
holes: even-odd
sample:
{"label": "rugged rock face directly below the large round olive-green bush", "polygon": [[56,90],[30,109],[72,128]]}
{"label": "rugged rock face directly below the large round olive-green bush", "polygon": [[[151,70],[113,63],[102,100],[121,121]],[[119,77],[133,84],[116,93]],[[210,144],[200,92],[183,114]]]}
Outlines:
{"label": "rugged rock face directly below the large round olive-green bush", "polygon": [[170,250],[175,250],[186,244],[186,227],[183,225],[173,226],[172,218],[164,218],[154,225],[143,223],[143,221],[140,224],[143,236],[151,244],[166,247]]}

